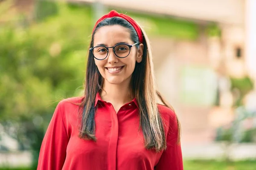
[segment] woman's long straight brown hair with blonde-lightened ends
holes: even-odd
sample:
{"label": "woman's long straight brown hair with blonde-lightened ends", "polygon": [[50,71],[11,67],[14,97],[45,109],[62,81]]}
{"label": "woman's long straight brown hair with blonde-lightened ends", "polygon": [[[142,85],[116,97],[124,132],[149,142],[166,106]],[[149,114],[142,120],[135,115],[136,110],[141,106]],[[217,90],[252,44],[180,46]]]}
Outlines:
{"label": "woman's long straight brown hair with blonde-lightened ends", "polygon": [[[110,25],[120,25],[128,28],[131,33],[131,40],[133,40],[134,43],[139,42],[137,33],[130,23],[120,17],[112,17],[103,20],[96,26],[90,42],[90,48],[93,47],[93,37],[95,32],[103,26]],[[157,97],[161,99],[164,105],[169,108],[172,107],[156,90],[151,47],[145,31],[142,28],[141,30],[143,32],[144,45],[143,59],[142,62],[136,63],[135,65],[131,79],[131,91],[134,93],[139,105],[140,128],[143,130],[145,148],[160,151],[166,148],[166,139],[163,120],[157,108]],[[93,54],[89,52],[85,78],[84,99],[80,105],[82,108],[79,133],[80,138],[96,141],[94,118],[97,108],[94,107],[94,105],[96,94],[102,90],[102,85],[103,77],[99,73],[99,70],[94,62]],[[180,132],[179,123],[178,127]],[[180,141],[179,136],[180,133],[178,133],[177,142]]]}

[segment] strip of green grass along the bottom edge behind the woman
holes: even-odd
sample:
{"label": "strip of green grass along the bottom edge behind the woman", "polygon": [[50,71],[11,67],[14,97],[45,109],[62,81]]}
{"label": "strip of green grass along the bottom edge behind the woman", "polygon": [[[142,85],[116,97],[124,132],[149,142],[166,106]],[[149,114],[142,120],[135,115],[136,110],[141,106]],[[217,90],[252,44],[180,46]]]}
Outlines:
{"label": "strip of green grass along the bottom edge behind the woman", "polygon": [[[31,170],[29,167],[1,168],[0,170]],[[256,160],[216,161],[216,160],[184,160],[184,170],[256,170]]]}

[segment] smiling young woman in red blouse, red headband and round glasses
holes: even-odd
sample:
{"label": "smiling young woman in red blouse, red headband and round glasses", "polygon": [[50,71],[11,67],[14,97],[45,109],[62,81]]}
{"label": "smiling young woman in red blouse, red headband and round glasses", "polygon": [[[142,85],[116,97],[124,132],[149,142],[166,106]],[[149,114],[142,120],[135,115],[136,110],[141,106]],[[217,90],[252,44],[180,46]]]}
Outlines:
{"label": "smiling young woman in red blouse, red headband and round glasses", "polygon": [[179,132],[156,90],[145,32],[113,10],[93,28],[84,96],[58,104],[37,169],[183,170]]}

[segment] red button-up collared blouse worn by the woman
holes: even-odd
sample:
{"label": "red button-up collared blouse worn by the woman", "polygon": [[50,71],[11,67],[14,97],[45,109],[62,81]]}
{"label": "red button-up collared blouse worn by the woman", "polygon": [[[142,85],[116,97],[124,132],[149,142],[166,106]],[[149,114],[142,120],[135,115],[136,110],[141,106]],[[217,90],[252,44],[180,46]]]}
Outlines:
{"label": "red button-up collared blouse worn by the woman", "polygon": [[136,99],[116,114],[111,103],[97,94],[97,141],[80,139],[79,106],[73,103],[81,100],[64,99],[57,105],[41,145],[37,170],[183,170],[174,111],[158,105],[166,120],[167,149],[155,152],[144,147]]}

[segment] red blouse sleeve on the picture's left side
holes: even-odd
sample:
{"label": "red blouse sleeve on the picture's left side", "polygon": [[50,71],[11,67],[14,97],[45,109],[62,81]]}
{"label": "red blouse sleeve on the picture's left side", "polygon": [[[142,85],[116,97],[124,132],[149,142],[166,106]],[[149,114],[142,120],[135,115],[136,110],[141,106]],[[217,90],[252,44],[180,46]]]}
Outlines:
{"label": "red blouse sleeve on the picture's left side", "polygon": [[63,122],[60,102],[45,133],[37,170],[61,170],[66,158],[68,142],[69,137]]}

